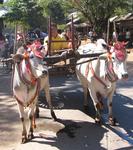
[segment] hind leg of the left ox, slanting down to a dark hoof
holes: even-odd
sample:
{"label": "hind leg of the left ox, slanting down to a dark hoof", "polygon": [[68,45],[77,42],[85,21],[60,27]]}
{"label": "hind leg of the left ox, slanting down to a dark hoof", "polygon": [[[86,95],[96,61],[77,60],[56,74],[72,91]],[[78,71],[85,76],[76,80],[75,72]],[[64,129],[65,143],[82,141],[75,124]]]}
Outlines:
{"label": "hind leg of the left ox, slanting down to a dark hoof", "polygon": [[46,94],[46,100],[47,100],[47,103],[49,105],[49,109],[51,111],[51,116],[52,118],[56,121],[57,120],[57,117],[54,113],[54,110],[53,110],[53,105],[52,105],[52,101],[51,101],[51,96],[50,96],[50,91],[49,91],[49,87],[48,88],[45,88],[44,89],[45,91],[45,94]]}

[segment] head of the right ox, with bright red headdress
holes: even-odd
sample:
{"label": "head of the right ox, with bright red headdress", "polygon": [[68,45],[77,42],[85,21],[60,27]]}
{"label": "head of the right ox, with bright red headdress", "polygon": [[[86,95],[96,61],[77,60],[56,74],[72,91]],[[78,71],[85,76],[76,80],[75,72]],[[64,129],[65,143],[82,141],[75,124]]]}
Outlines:
{"label": "head of the right ox, with bright red headdress", "polygon": [[113,70],[117,75],[118,79],[128,78],[126,58],[127,52],[125,49],[125,43],[124,42],[115,43],[114,46],[112,47],[110,59],[112,60]]}

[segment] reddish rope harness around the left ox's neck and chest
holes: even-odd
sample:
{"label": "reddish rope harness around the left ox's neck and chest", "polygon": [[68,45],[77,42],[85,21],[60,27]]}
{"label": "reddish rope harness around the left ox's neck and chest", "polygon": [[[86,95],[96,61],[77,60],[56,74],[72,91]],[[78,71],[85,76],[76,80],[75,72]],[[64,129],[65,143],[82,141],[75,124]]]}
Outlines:
{"label": "reddish rope harness around the left ox's neck and chest", "polygon": [[24,74],[22,72],[22,61],[23,60],[19,64],[17,64],[17,66],[18,66],[18,74],[19,74],[20,80],[27,87],[27,89],[29,89],[29,86],[31,86],[31,87],[35,87],[36,86],[36,90],[35,90],[35,93],[34,93],[33,97],[27,102],[26,106],[24,105],[22,100],[20,100],[15,94],[14,94],[14,97],[16,98],[17,102],[20,105],[22,105],[23,107],[28,107],[34,102],[35,98],[37,97],[37,95],[39,93],[39,90],[40,90],[40,79],[36,78],[33,75],[33,72],[32,72],[32,69],[31,69],[31,64],[30,64],[30,61],[29,61],[29,56],[27,55],[27,53],[24,53],[24,59],[27,62],[26,69],[27,69],[28,74],[30,75],[30,80],[26,79],[26,77],[24,76]]}

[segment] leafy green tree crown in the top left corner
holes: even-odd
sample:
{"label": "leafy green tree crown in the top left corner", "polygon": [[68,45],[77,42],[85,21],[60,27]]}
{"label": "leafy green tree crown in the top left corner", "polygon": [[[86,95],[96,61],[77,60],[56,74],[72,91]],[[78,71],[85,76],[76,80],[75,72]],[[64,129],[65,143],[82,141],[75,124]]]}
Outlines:
{"label": "leafy green tree crown in the top left corner", "polygon": [[10,0],[8,7],[10,8],[6,15],[8,21],[17,22],[28,28],[46,29],[46,18],[35,0]]}

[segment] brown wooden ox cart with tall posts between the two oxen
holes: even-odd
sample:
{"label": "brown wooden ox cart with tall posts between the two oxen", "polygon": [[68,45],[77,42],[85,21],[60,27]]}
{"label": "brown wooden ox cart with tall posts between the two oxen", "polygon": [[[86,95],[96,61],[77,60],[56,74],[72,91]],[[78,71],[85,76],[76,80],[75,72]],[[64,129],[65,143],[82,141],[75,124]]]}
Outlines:
{"label": "brown wooden ox cart with tall posts between the two oxen", "polygon": [[[48,24],[48,56],[44,58],[44,61],[47,62],[49,66],[49,73],[50,75],[62,75],[62,74],[73,74],[75,73],[75,66],[77,65],[77,60],[81,58],[91,58],[87,61],[92,61],[97,59],[99,55],[102,53],[93,53],[93,54],[79,54],[77,52],[78,47],[75,43],[80,43],[78,39],[75,39],[75,28],[73,23],[73,16],[71,19],[71,39],[69,40],[62,40],[62,41],[55,41],[52,40],[52,33],[51,33],[51,18],[49,18]],[[60,49],[58,52],[51,52],[51,44],[58,43],[58,42],[69,42],[71,43],[71,48],[68,49]],[[85,63],[85,62],[83,62]]]}

